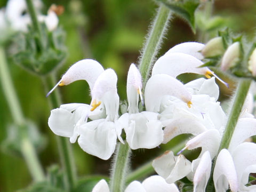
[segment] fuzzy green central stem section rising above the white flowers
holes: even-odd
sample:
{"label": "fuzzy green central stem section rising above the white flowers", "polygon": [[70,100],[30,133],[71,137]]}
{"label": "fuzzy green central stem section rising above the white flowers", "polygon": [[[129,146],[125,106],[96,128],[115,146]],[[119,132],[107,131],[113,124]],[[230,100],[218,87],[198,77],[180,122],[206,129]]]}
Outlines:
{"label": "fuzzy green central stem section rising above the white flowers", "polygon": [[151,25],[149,30],[145,47],[143,47],[142,50],[139,69],[143,79],[143,84],[147,82],[149,77],[150,69],[153,66],[153,61],[162,43],[170,15],[170,9],[164,5],[160,5],[156,18],[153,21],[153,25]]}

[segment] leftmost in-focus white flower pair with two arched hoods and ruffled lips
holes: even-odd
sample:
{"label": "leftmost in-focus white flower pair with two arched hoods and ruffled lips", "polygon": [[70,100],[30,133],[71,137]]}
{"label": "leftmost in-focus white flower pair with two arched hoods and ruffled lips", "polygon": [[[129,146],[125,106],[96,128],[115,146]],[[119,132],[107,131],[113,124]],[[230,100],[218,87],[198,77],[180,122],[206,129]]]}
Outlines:
{"label": "leftmost in-focus white flower pair with two arched hoods and ruffled lips", "polygon": [[[51,111],[50,129],[62,137],[70,137],[91,155],[108,159],[115,150],[117,137],[121,142],[122,127],[118,118],[119,97],[117,94],[117,76],[113,69],[104,70],[100,63],[91,59],[78,61],[62,76],[58,85],[68,85],[84,79],[91,89],[91,105],[70,103]],[[87,122],[87,118],[94,121]]]}

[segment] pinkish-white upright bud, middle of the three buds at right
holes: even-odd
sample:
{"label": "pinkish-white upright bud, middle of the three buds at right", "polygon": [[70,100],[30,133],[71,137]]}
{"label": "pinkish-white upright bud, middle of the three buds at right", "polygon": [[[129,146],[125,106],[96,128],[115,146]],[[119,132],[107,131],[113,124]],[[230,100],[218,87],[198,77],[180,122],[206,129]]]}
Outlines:
{"label": "pinkish-white upright bud, middle of the three buds at right", "polygon": [[239,61],[240,57],[240,43],[235,42],[230,45],[227,51],[224,53],[221,61],[221,70],[226,71],[231,67],[234,67]]}

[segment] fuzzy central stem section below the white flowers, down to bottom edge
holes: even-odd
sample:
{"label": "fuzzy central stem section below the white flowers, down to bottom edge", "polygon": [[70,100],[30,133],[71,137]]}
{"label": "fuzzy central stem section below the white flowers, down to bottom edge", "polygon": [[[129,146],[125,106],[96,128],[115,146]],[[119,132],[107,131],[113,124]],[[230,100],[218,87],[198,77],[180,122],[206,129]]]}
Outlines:
{"label": "fuzzy central stem section below the white flowers, down to bottom edge", "polygon": [[131,149],[127,142],[125,145],[119,143],[116,147],[114,163],[112,165],[113,172],[110,179],[111,192],[123,192],[125,187],[125,176],[130,164]]}

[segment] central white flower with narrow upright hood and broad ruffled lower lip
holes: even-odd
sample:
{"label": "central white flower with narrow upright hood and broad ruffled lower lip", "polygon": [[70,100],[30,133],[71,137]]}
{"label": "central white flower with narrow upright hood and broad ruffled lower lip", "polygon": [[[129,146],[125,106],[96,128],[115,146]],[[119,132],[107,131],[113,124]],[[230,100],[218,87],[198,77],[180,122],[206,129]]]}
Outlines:
{"label": "central white flower with narrow upright hood and broad ruffled lower lip", "polygon": [[[118,119],[118,122],[124,127],[126,141],[131,149],[155,148],[162,143],[164,135],[163,125],[158,121],[157,113],[150,111],[139,113],[138,101],[141,88],[141,75],[137,67],[132,64],[128,72],[126,86],[129,113],[123,114]],[[140,98],[143,101],[142,96]],[[154,100],[147,100],[147,102],[154,102]]]}

